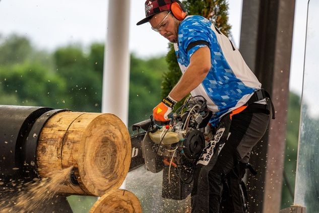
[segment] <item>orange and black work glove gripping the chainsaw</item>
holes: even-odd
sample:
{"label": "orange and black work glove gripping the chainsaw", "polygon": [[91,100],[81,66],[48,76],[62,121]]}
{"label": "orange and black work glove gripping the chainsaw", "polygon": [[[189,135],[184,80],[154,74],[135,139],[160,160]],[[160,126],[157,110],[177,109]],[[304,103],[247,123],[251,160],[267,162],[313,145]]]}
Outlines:
{"label": "orange and black work glove gripping the chainsaw", "polygon": [[168,121],[168,114],[172,112],[176,102],[170,96],[163,98],[162,102],[153,109],[154,119],[157,121]]}

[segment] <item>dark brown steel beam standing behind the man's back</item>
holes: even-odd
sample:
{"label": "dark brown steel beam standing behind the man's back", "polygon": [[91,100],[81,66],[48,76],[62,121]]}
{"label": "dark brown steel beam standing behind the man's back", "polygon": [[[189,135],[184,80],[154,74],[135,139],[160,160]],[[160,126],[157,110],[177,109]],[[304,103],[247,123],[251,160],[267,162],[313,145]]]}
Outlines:
{"label": "dark brown steel beam standing behind the man's back", "polygon": [[277,112],[250,161],[259,171],[248,177],[251,212],[280,210],[294,8],[294,0],[243,0],[240,51]]}

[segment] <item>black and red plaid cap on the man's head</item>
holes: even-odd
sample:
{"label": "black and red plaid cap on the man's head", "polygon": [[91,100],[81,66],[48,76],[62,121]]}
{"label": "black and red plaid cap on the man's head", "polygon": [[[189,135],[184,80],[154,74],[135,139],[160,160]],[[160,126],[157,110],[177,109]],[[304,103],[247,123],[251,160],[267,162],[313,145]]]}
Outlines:
{"label": "black and red plaid cap on the man's head", "polygon": [[155,14],[163,11],[169,11],[171,0],[147,0],[145,2],[145,19],[139,21],[136,25],[141,25],[148,22]]}

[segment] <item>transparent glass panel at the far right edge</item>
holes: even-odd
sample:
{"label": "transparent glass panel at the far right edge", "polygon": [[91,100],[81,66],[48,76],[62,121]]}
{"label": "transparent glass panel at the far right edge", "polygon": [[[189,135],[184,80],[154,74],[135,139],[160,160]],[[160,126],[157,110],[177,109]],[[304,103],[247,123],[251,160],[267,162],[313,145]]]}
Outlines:
{"label": "transparent glass panel at the far right edge", "polygon": [[307,212],[319,209],[319,2],[309,0],[301,100],[295,204]]}

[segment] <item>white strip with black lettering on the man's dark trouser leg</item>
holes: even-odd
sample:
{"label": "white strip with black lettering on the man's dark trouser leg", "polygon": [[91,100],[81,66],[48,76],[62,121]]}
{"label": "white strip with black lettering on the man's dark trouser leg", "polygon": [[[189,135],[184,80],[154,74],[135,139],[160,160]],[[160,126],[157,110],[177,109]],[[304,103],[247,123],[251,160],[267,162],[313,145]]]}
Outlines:
{"label": "white strip with black lettering on the man's dark trouser leg", "polygon": [[[216,147],[216,144],[219,142],[220,138],[223,136],[224,131],[225,131],[225,128],[220,128],[216,131],[214,138],[210,141],[210,143],[204,149],[203,154],[201,158],[199,159],[199,161],[197,162],[197,164],[202,164],[206,166],[209,163],[212,156],[214,155],[214,149]],[[221,151],[221,149],[224,147],[224,145],[225,143],[219,144],[218,154]]]}

